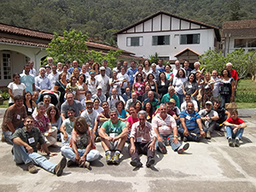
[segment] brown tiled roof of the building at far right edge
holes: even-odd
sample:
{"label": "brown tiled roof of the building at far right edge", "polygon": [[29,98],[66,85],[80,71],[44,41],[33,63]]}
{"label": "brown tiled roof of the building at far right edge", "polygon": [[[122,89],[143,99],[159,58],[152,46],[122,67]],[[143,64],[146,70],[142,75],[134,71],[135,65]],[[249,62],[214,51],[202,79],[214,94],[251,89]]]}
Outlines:
{"label": "brown tiled roof of the building at far right edge", "polygon": [[232,20],[224,21],[222,24],[222,38],[255,38],[256,20]]}

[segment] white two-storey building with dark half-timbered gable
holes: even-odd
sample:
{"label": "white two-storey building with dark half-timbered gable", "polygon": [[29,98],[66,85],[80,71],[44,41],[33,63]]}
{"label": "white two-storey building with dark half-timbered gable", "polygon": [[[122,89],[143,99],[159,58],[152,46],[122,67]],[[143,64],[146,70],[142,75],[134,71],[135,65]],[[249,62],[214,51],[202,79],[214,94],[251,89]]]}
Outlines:
{"label": "white two-storey building with dark half-timbered gable", "polygon": [[[208,49],[218,49],[218,27],[159,11],[127,26],[117,35],[119,49],[149,58],[158,53],[161,59],[194,62]],[[192,52],[191,52],[192,51]],[[191,52],[191,53],[190,53]]]}

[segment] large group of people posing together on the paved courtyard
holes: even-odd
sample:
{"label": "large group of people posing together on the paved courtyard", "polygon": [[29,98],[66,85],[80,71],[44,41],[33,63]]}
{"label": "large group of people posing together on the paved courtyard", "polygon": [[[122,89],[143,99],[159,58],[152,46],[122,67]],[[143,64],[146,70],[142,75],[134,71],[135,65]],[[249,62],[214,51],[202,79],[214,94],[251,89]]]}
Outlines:
{"label": "large group of people posing together on the paved courtyard", "polygon": [[[147,154],[146,166],[154,165],[155,149],[167,153],[167,145],[177,154],[189,148],[187,141],[211,139],[214,130],[226,131],[231,147],[247,126],[237,110],[225,110],[234,101],[237,73],[228,63],[218,77],[217,71],[203,73],[200,62],[195,69],[185,61],[158,65],[143,61],[117,62],[113,70],[108,61],[77,61],[48,65],[37,71],[30,61],[23,73],[15,73],[8,85],[9,108],[3,118],[3,139],[13,144],[16,163],[25,163],[35,173],[34,165],[60,176],[65,166],[78,165],[90,169],[90,161],[98,160],[96,142],[101,141],[107,164],[119,164],[120,154],[129,143],[131,166],[141,167],[139,154]],[[58,104],[51,103],[56,93]],[[219,99],[220,98],[220,99]],[[40,100],[41,99],[41,100]],[[39,102],[42,101],[42,102]],[[181,144],[178,140],[185,142]],[[62,143],[63,158],[55,165],[38,154],[49,156],[49,146]],[[68,159],[68,160],[67,160]]]}

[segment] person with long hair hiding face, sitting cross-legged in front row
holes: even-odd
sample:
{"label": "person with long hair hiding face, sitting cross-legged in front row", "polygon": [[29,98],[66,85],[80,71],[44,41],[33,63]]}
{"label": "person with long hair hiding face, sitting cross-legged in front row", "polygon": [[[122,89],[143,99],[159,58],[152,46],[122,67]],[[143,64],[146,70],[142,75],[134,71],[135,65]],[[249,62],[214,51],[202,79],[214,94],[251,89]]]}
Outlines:
{"label": "person with long hair hiding face, sitting cross-legged in front row", "polygon": [[99,159],[100,153],[92,148],[89,126],[84,118],[75,119],[70,146],[64,145],[61,154],[69,159],[67,167],[79,164],[90,169],[90,162]]}

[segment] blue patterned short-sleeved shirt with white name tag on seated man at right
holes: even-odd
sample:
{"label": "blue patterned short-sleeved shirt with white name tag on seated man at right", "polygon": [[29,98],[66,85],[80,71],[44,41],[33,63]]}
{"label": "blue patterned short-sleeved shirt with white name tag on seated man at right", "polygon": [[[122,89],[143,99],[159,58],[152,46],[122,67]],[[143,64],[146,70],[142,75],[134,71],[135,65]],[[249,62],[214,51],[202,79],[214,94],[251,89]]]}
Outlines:
{"label": "blue patterned short-sleeved shirt with white name tag on seated man at right", "polygon": [[[186,110],[183,110],[180,113],[179,118],[184,118],[185,119],[185,124],[186,124],[188,130],[195,130],[196,128],[198,128],[198,125],[196,123],[196,119],[201,119],[201,116],[196,111],[189,114]],[[181,126],[183,127],[182,124],[181,124]]]}

